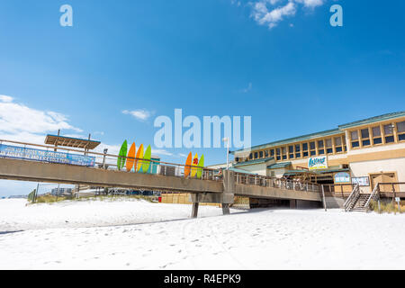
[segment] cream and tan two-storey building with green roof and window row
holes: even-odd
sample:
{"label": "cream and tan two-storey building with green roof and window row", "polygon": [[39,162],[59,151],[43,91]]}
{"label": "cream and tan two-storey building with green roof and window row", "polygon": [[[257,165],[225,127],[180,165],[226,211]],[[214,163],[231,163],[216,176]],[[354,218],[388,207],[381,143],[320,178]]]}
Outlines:
{"label": "cream and tan two-storey building with green roof and window row", "polygon": [[[249,173],[341,184],[342,193],[360,184],[363,193],[371,193],[377,183],[405,183],[405,111],[231,154],[233,167]],[[405,186],[395,187],[405,192]]]}

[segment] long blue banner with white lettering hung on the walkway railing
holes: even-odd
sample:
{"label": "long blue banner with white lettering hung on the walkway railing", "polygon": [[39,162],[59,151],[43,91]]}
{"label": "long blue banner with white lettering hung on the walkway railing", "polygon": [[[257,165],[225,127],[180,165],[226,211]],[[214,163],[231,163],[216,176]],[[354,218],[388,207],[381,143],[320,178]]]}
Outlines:
{"label": "long blue banner with white lettering hung on the walkway railing", "polygon": [[0,157],[77,166],[94,166],[95,157],[0,144]]}

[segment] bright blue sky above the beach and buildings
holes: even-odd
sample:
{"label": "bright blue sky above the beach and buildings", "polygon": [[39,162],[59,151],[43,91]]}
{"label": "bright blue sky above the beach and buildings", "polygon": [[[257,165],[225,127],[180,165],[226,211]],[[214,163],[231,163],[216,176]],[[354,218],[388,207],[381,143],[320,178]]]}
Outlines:
{"label": "bright blue sky above the beach and buildings", "polygon": [[[62,4],[73,27],[59,25]],[[332,4],[343,27],[329,24]],[[38,142],[62,128],[111,149],[152,144],[154,119],[181,108],[251,116],[258,145],[402,111],[403,11],[403,1],[4,0],[0,95],[12,99],[0,101],[0,136]],[[156,151],[183,163],[189,149]],[[226,161],[224,148],[194,151]],[[24,193],[13,184],[1,181],[0,196]]]}

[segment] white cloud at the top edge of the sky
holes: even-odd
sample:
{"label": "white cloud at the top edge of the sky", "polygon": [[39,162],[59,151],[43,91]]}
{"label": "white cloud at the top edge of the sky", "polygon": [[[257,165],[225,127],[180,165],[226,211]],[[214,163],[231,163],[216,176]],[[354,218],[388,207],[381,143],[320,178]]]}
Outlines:
{"label": "white cloud at the top edge of the sky", "polygon": [[274,28],[284,18],[294,16],[299,6],[315,8],[324,3],[324,0],[257,0],[251,2],[251,16],[260,25]]}

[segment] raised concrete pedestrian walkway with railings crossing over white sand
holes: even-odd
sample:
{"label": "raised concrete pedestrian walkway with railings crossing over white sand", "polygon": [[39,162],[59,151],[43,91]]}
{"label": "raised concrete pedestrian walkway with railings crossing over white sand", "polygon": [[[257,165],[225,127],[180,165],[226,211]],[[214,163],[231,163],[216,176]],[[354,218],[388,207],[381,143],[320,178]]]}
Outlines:
{"label": "raised concrete pedestrian walkway with railings crossing over white sand", "polygon": [[[44,146],[41,145],[41,147]],[[68,150],[70,152],[75,151]],[[105,155],[103,154],[87,153],[103,157],[103,163],[88,167],[0,157],[0,179],[191,193],[192,202],[194,203],[194,216],[196,216],[199,202],[222,203],[224,212],[227,213],[229,204],[234,201],[234,196],[311,202],[322,201],[320,186],[317,184],[307,184],[261,175],[241,174],[233,171],[224,171],[223,175],[219,176],[217,170],[205,168],[203,169],[202,179],[184,178],[181,173],[184,166],[165,162],[155,163],[158,166],[157,174],[126,172],[117,170],[113,165],[106,168]],[[117,156],[109,155],[109,157]],[[170,172],[174,169],[177,173]],[[178,173],[179,171],[180,173]]]}

